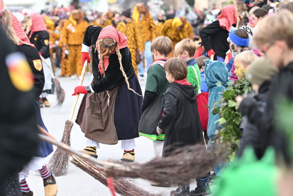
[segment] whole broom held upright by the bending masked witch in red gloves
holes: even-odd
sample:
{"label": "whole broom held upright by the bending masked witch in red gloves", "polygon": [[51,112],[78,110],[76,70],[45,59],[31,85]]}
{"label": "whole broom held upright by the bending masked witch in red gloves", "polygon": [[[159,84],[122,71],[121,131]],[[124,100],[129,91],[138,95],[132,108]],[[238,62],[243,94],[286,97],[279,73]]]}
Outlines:
{"label": "whole broom held upright by the bending masked witch in red gloves", "polygon": [[[82,82],[84,81],[84,74],[86,72],[87,64],[88,64],[88,61],[85,61],[84,67],[82,68],[82,72],[81,72],[81,78],[79,80],[79,86],[81,86]],[[67,144],[69,146],[70,146],[70,133],[73,126],[72,118],[74,115],[74,110],[75,110],[78,98],[79,98],[79,94],[76,94],[75,100],[71,107],[69,120],[65,121],[64,132],[63,132],[62,139],[60,141],[61,143]],[[57,147],[57,149],[55,150],[54,154],[52,155],[47,165],[49,169],[54,172],[55,176],[62,176],[62,175],[65,175],[68,171],[68,163],[69,163],[69,155],[65,153],[63,150],[61,150],[59,147]]]}

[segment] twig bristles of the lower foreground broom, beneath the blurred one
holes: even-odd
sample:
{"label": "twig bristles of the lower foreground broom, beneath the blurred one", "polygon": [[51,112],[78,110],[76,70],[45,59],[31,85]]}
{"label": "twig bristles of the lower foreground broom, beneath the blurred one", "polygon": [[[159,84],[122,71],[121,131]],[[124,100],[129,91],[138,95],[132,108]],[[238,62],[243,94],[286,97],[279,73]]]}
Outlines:
{"label": "twig bristles of the lower foreground broom, beneath the blurred one", "polygon": [[[100,181],[103,185],[107,185],[107,174],[105,171],[96,166],[95,164],[76,157],[75,155],[72,156],[72,160],[70,161],[77,167],[79,167],[81,170],[84,170],[87,172],[89,175],[94,177],[96,180]],[[125,178],[113,178],[113,185],[115,187],[115,191],[120,194],[120,195],[125,195],[125,196],[159,196],[162,194],[151,194],[147,191],[144,191],[143,189],[135,186],[133,183],[131,183],[129,180]]]}

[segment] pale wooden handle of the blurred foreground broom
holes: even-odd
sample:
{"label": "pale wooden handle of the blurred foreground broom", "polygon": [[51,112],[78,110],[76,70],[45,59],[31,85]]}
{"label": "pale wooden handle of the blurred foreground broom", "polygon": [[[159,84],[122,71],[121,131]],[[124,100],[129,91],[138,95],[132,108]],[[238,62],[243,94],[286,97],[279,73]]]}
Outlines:
{"label": "pale wooden handle of the blurred foreground broom", "polygon": [[[45,131],[45,132],[47,132],[47,131]],[[39,136],[39,138],[41,140],[43,140],[43,141],[45,141],[47,143],[50,143],[50,144],[58,146],[59,148],[64,150],[64,152],[69,154],[70,156],[76,155],[78,157],[87,159],[87,160],[91,161],[92,163],[95,163],[95,164],[100,165],[102,167],[109,166],[109,167],[125,168],[123,165],[120,165],[120,164],[117,164],[117,163],[111,163],[111,162],[108,162],[108,161],[98,161],[97,159],[93,158],[91,155],[87,155],[87,154],[81,153],[81,152],[79,152],[77,150],[74,150],[74,149],[70,148],[69,145],[61,143],[61,142],[57,141],[56,139],[52,139],[47,135],[38,134],[38,136]]]}

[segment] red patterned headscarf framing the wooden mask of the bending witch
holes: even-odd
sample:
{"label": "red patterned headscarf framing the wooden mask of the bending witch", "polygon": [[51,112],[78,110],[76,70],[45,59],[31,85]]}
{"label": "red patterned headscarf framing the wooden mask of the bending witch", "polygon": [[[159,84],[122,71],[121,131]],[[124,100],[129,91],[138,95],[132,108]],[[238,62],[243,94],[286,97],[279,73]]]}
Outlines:
{"label": "red patterned headscarf framing the wooden mask of the bending witch", "polygon": [[[101,30],[98,40],[96,42],[96,47],[98,46],[98,41],[104,38],[112,38],[113,40],[117,41],[119,49],[127,47],[127,37],[120,31],[117,31],[117,29],[113,25],[108,25]],[[109,66],[109,58],[104,58],[103,61],[104,68],[106,71],[106,69]],[[99,62],[99,70],[101,74],[103,74],[103,70],[101,68],[101,61]]]}

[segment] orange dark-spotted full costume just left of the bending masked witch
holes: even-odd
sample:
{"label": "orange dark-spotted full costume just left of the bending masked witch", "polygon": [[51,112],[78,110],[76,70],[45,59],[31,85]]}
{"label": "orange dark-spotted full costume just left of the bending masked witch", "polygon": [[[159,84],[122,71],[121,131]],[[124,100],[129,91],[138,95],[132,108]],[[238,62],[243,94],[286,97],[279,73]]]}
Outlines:
{"label": "orange dark-spotted full costume just left of the bending masked witch", "polygon": [[77,76],[81,75],[82,66],[80,51],[87,27],[88,23],[85,20],[81,20],[77,24],[77,22],[72,19],[71,15],[69,20],[64,23],[61,30],[60,43],[62,43],[62,45],[66,44],[69,49],[68,63],[65,66],[62,64],[62,72],[67,73],[67,76],[74,75],[75,73],[77,73]]}

